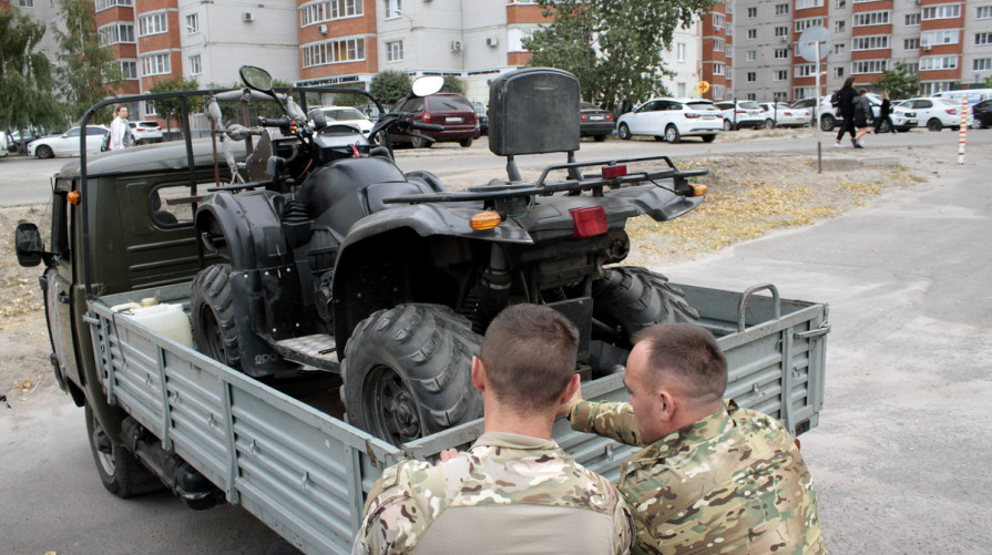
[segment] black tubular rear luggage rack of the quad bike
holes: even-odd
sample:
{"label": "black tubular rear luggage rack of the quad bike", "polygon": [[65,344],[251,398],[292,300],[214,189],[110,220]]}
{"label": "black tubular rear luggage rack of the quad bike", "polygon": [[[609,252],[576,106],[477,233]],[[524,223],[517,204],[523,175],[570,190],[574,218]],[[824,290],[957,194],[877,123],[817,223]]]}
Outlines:
{"label": "black tubular rear luggage rack of the quad bike", "polygon": [[[661,169],[647,169],[638,172],[626,172],[626,164],[638,162],[664,161],[668,167]],[[604,168],[600,176],[585,177],[581,173],[583,167],[599,166]],[[617,168],[615,171],[606,171],[606,168]],[[623,169],[621,169],[623,168]],[[551,172],[565,171],[569,175],[579,175],[579,178],[564,181],[549,181],[548,175]],[[550,196],[555,193],[581,193],[582,191],[592,191],[593,196],[602,196],[603,188],[618,188],[642,182],[652,182],[658,187],[664,187],[658,179],[672,179],[672,189],[679,195],[692,195],[693,189],[688,184],[688,177],[708,174],[708,169],[686,169],[681,171],[672,163],[668,156],[643,156],[636,158],[607,160],[597,162],[570,162],[565,164],[552,164],[546,166],[541,176],[534,182],[501,182],[498,184],[481,185],[470,187],[467,192],[457,193],[425,193],[418,195],[400,195],[383,198],[387,204],[420,204],[420,203],[448,203],[464,201],[488,201],[499,198],[513,198],[524,196]]]}

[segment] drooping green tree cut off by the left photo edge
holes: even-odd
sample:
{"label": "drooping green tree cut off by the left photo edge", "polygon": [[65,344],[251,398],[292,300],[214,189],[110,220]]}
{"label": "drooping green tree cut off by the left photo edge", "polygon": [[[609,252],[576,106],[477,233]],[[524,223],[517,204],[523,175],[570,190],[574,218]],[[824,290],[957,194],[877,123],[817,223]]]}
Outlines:
{"label": "drooping green tree cut off by the left photo edge", "polygon": [[[0,130],[59,129],[65,124],[55,97],[51,61],[35,52],[45,25],[16,8],[0,10]],[[22,145],[23,146],[23,145]]]}

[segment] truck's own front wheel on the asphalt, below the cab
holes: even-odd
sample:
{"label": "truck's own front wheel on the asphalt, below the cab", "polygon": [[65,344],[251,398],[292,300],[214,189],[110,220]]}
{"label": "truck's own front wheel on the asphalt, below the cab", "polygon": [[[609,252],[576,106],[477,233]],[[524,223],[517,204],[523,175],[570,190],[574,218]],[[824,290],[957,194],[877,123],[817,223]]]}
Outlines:
{"label": "truck's own front wheel on the asphalt, below the cab", "polygon": [[85,407],[90,451],[93,452],[96,473],[100,474],[100,481],[103,482],[106,491],[117,497],[131,497],[165,487],[162,481],[145,469],[137,458],[103,431],[90,403],[86,403]]}

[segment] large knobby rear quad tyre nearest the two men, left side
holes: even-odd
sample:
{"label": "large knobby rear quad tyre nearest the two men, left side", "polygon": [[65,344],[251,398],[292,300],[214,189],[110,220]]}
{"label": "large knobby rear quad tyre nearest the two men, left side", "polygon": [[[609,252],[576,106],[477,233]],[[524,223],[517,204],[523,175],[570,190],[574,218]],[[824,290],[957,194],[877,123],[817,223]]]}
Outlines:
{"label": "large knobby rear quad tyre nearest the two men, left side", "polygon": [[355,328],[341,377],[348,422],[395,445],[475,420],[472,356],[482,338],[441,305],[399,305]]}

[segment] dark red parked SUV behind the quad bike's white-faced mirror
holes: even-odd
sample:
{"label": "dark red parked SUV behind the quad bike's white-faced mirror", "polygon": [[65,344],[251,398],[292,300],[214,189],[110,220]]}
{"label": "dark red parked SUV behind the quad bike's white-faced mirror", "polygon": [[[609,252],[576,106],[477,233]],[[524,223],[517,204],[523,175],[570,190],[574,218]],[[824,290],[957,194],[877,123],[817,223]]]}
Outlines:
{"label": "dark red parked SUV behind the quad bike's white-faced mirror", "polygon": [[[441,131],[418,131],[438,143],[459,143],[472,146],[478,124],[475,109],[463,95],[458,93],[437,93],[430,96],[400,101],[392,106],[392,112],[411,112],[413,121],[431,123],[443,127]],[[415,148],[430,147],[431,142],[410,135],[389,135],[393,143],[410,143]]]}

